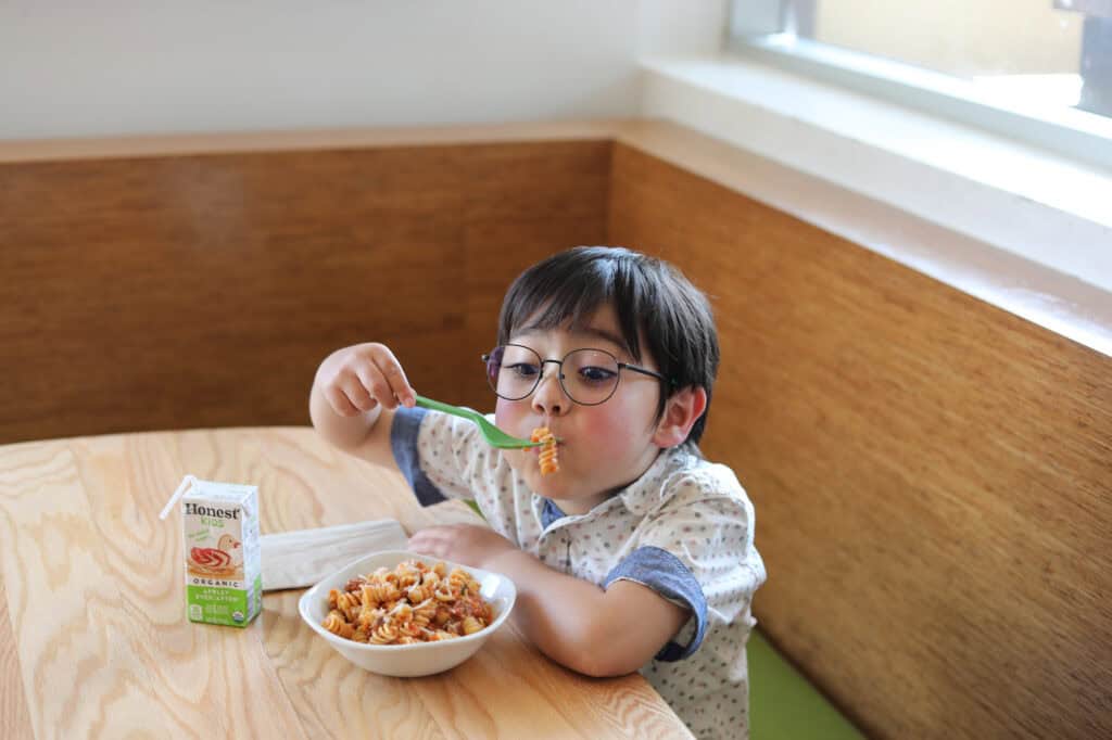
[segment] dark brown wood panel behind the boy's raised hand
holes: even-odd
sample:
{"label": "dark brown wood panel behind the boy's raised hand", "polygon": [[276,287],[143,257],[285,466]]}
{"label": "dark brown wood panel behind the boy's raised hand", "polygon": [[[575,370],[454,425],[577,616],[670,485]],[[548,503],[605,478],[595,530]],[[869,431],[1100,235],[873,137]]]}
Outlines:
{"label": "dark brown wood panel behind the boy's raised hand", "polygon": [[317,363],[370,339],[423,392],[475,402],[460,367],[497,308],[474,314],[489,307],[473,291],[568,238],[603,241],[609,156],[569,141],[0,163],[0,443],[306,423]]}

